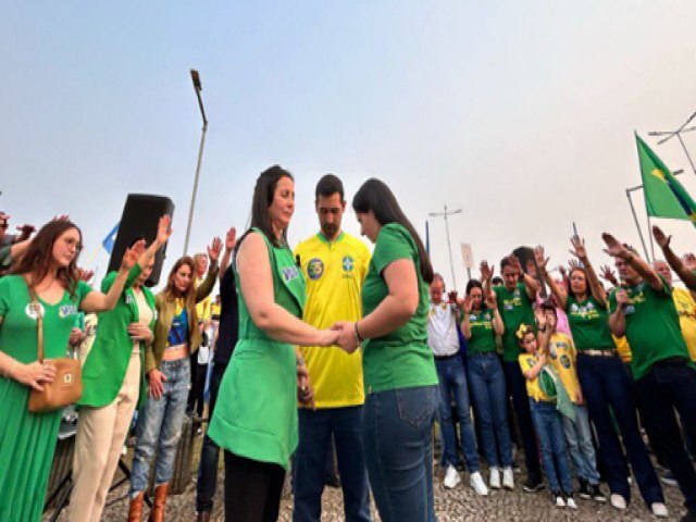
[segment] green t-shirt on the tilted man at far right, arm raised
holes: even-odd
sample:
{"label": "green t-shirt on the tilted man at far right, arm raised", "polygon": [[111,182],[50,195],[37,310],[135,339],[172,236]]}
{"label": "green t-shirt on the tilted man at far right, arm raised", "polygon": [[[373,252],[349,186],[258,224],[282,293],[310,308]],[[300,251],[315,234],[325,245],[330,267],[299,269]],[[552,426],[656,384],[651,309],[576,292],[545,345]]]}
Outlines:
{"label": "green t-shirt on the tilted man at far right, arm raised", "polygon": [[[661,290],[652,289],[645,281],[626,288],[626,339],[633,353],[631,372],[636,381],[645,376],[652,364],[663,359],[681,357],[689,360],[672,290],[662,276],[659,277],[662,279]],[[609,311],[613,313],[616,310],[614,290],[609,297]]]}

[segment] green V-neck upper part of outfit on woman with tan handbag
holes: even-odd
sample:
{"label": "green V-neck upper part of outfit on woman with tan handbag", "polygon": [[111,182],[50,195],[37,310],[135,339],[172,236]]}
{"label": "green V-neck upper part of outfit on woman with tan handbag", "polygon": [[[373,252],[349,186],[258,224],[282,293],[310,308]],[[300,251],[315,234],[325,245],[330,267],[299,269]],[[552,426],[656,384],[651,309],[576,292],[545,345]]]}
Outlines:
{"label": "green V-neck upper part of outfit on woman with tan handbag", "polygon": [[[65,357],[70,333],[79,313],[79,303],[91,291],[84,281],[77,282],[75,296],[66,290],[55,304],[38,297],[44,310],[44,357]],[[37,314],[30,304],[29,290],[24,277],[8,275],[0,278],[0,351],[23,364],[38,360]]]}

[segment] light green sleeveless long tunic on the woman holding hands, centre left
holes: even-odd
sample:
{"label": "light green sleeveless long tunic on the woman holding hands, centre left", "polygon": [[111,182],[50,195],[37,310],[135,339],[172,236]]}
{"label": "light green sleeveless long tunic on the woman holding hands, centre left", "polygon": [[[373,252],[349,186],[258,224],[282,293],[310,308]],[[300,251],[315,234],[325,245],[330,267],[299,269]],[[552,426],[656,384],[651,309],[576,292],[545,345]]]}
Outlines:
{"label": "light green sleeveless long tunic on the woman holding hands, centre left", "polygon": [[[275,302],[301,318],[304,277],[293,252],[254,232],[269,248]],[[287,469],[298,442],[295,346],[273,340],[253,323],[236,275],[239,337],[220,384],[208,435],[238,457]]]}

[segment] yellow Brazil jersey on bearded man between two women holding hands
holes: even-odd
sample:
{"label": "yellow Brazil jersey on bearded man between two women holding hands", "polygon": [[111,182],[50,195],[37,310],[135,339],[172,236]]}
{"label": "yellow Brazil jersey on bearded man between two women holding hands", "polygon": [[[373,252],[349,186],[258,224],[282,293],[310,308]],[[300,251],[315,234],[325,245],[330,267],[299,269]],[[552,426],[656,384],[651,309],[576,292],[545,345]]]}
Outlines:
{"label": "yellow Brazil jersey on bearded man between two women holding hands", "polygon": [[[295,258],[304,273],[307,303],[303,320],[320,330],[336,321],[362,316],[360,289],[368,273],[370,251],[346,233],[328,243],[316,234],[300,243]],[[340,408],[364,402],[362,353],[338,347],[300,347],[314,388],[316,408]]]}

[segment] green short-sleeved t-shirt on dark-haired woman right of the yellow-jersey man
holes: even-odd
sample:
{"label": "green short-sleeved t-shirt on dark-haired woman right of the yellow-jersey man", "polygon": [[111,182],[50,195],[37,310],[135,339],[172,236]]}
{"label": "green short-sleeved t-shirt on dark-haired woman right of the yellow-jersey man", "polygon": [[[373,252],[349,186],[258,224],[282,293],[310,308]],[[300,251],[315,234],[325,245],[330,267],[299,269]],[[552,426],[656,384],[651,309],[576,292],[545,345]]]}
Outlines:
{"label": "green short-sleeved t-shirt on dark-haired woman right of the yellow-jersey man", "polygon": [[415,266],[418,308],[403,326],[365,340],[362,355],[365,394],[437,384],[433,352],[427,347],[427,284],[421,276],[415,241],[397,223],[384,225],[377,236],[362,285],[362,313],[369,315],[387,297],[389,289],[382,272],[399,259],[410,259]]}

